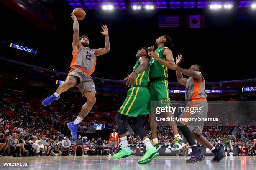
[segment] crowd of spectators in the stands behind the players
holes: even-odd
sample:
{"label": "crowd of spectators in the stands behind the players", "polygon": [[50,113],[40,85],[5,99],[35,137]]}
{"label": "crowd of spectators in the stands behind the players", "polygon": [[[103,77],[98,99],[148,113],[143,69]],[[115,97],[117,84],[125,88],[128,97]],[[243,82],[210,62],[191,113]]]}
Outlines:
{"label": "crowd of spectators in the stands behind the players", "polygon": [[[78,130],[87,132],[93,123],[102,123],[108,125],[108,128],[116,128],[115,115],[124,99],[125,95],[115,97],[97,95],[97,103]],[[77,148],[85,150],[90,148],[86,146],[96,143],[94,140],[86,140],[83,147],[79,145],[76,148],[74,140],[68,138],[70,134],[67,122],[79,114],[81,106],[86,102],[82,97],[75,96],[72,102],[69,102],[70,99],[63,96],[49,107],[43,107],[41,101],[42,99],[38,96],[0,92],[0,153],[2,155],[58,156],[62,155],[64,150],[67,151],[67,155],[70,151],[76,155]],[[148,120],[148,117],[145,117],[145,120]],[[148,131],[149,138],[152,138],[148,121],[145,121],[144,127]],[[232,138],[232,145],[242,144],[240,134],[251,139],[255,138],[255,126],[239,127],[237,136],[232,135],[233,128],[232,125],[205,126],[202,135],[214,145],[224,145],[225,138],[228,136]],[[174,144],[172,129],[169,126],[159,126],[157,133],[159,143],[162,145]],[[64,146],[62,140],[67,140]],[[128,135],[128,142],[129,144],[142,143],[136,134]],[[105,148],[109,148],[108,141],[103,140],[103,143]],[[250,145],[253,146],[254,143]],[[99,149],[102,154],[102,147],[96,149]],[[89,150],[89,153],[92,154],[92,151]]]}

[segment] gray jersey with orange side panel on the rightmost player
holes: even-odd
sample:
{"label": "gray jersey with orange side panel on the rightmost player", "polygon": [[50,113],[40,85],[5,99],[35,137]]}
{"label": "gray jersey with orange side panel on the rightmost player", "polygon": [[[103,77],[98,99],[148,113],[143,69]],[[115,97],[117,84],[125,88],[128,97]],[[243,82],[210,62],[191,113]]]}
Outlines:
{"label": "gray jersey with orange side panel on the rightmost player", "polygon": [[186,83],[186,101],[206,101],[205,80],[195,82],[193,77],[189,77]]}

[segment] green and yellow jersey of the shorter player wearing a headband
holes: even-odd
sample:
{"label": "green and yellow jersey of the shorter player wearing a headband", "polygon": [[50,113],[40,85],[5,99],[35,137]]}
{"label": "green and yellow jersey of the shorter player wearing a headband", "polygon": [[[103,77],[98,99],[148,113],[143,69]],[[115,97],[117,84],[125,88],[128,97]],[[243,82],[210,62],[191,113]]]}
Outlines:
{"label": "green and yellow jersey of the shorter player wearing a headband", "polygon": [[[139,66],[140,63],[138,62],[139,60],[136,61],[135,66],[133,67],[133,71],[135,71]],[[149,61],[150,62],[150,61]],[[150,64],[148,64],[148,67],[146,68],[145,71],[141,72],[140,74],[138,74],[136,76],[134,85],[132,85],[131,87],[134,87],[136,85],[145,85],[148,86],[148,82],[149,82],[149,70],[150,70]]]}

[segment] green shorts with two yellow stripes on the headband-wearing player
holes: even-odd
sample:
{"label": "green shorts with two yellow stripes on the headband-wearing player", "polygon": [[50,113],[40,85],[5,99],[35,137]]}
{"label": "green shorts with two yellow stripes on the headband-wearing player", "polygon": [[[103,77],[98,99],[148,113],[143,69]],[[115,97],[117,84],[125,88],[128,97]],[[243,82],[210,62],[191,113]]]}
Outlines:
{"label": "green shorts with two yellow stripes on the headband-wearing player", "polygon": [[127,116],[138,117],[148,115],[149,91],[144,87],[132,87],[127,92],[127,97],[119,109],[119,113]]}

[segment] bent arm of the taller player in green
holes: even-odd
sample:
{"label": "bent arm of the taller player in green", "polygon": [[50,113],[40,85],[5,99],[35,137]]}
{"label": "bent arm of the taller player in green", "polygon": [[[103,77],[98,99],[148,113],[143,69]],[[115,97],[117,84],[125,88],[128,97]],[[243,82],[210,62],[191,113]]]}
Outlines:
{"label": "bent arm of the taller player in green", "polygon": [[154,60],[159,61],[161,64],[163,64],[165,67],[168,67],[169,69],[175,70],[175,63],[172,57],[172,51],[169,48],[166,48],[165,50],[163,50],[163,54],[166,57],[166,60],[159,58],[156,52],[149,52],[149,56],[154,58]]}

